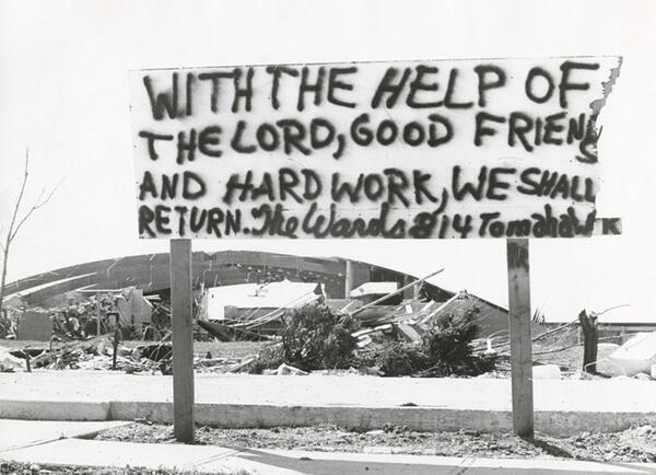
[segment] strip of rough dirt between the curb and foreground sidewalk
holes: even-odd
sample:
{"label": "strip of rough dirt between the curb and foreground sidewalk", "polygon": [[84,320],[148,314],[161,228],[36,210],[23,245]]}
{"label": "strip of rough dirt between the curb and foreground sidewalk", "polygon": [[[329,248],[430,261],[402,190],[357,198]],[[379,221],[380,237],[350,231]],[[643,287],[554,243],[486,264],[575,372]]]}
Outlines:
{"label": "strip of rough dirt between the curb and foreground sidewalk", "polygon": [[[98,435],[97,439],[175,443],[172,426],[149,422],[112,429]],[[656,427],[652,426],[634,427],[616,433],[582,432],[562,439],[538,435],[534,440],[525,440],[507,432],[414,432],[403,427],[356,432],[335,426],[272,429],[218,429],[198,426],[196,440],[198,444],[250,449],[656,462]]]}

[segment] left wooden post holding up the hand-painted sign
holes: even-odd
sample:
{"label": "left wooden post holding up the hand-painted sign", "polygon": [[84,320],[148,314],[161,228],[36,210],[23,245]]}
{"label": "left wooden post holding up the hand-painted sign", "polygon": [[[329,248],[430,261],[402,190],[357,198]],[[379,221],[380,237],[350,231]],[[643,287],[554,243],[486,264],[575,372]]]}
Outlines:
{"label": "left wooden post holding up the hand-painted sign", "polygon": [[186,443],[194,442],[194,318],[191,299],[191,240],[171,240],[173,431],[179,442]]}

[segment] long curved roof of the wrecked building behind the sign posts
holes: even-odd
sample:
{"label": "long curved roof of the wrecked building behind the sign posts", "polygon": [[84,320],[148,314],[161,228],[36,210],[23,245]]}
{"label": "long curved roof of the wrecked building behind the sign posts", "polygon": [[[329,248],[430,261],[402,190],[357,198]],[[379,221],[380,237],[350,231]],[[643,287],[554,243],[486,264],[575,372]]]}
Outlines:
{"label": "long curved roof of the wrecked building behind the sign posts", "polygon": [[[192,256],[194,283],[207,287],[244,282],[295,280],[324,283],[327,292],[343,298],[347,259],[339,257],[304,257],[254,251],[195,252]],[[415,279],[393,269],[368,263],[353,262],[353,287],[371,280],[371,271],[383,271],[387,279],[399,282]],[[40,305],[46,300],[73,290],[109,290],[134,286],[145,292],[169,288],[169,254],[143,254],[95,260],[38,274],[5,286],[8,298],[20,294],[28,305]],[[454,293],[427,285],[436,300],[446,300]]]}

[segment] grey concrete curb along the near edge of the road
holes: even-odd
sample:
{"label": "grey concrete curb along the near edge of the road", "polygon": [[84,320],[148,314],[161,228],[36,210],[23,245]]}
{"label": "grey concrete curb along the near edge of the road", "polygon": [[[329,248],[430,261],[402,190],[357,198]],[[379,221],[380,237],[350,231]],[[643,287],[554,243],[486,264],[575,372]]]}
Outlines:
{"label": "grey concrete curb along the near edge of the road", "polygon": [[[0,418],[33,420],[173,421],[173,403],[0,401]],[[509,410],[432,407],[195,405],[195,420],[225,429],[336,425],[356,430],[405,426],[415,431],[501,432],[513,429]],[[536,412],[536,430],[569,437],[582,431],[614,432],[634,425],[656,425],[656,413]]]}

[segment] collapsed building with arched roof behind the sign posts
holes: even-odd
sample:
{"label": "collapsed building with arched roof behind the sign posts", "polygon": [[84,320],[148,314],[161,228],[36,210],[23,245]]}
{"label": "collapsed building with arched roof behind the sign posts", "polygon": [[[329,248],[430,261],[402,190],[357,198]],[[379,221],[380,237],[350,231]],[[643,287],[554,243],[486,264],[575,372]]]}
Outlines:
{"label": "collapsed building with arched roof behind the sign posts", "polygon": [[[313,301],[356,311],[364,327],[394,323],[410,339],[421,334],[417,325],[425,327],[443,313],[473,308],[478,309],[481,336],[507,332],[507,311],[492,302],[426,281],[413,286],[417,276],[364,262],[251,251],[195,252],[192,273],[198,320],[236,325],[250,333],[276,333],[284,310]],[[157,318],[157,310],[167,310],[169,255],[145,254],[65,267],[11,282],[5,294],[7,303],[31,314],[90,300],[108,301],[105,315],[141,329]],[[38,318],[31,316],[26,322]],[[38,325],[43,335],[43,322]],[[99,331],[99,324],[96,328]],[[25,334],[19,331],[17,337],[27,339]],[[34,337],[34,332],[27,334]]]}

